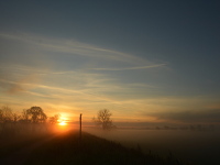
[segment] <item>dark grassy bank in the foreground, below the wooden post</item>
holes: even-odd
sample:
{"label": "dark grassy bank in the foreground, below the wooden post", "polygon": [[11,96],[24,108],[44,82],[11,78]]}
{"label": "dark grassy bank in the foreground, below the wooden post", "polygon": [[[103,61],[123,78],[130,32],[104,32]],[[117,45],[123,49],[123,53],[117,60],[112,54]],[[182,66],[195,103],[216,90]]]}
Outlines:
{"label": "dark grassy bank in the foreground, below the wooden post", "polygon": [[21,152],[14,153],[21,145],[12,147],[13,152],[2,152],[1,154],[11,161],[4,158],[3,163],[24,165],[184,165],[172,155],[160,157],[155,154],[143,154],[139,148],[127,148],[119,143],[85,132],[81,140],[79,140],[78,133],[68,132],[50,138],[42,136],[42,139],[30,140],[26,143]]}

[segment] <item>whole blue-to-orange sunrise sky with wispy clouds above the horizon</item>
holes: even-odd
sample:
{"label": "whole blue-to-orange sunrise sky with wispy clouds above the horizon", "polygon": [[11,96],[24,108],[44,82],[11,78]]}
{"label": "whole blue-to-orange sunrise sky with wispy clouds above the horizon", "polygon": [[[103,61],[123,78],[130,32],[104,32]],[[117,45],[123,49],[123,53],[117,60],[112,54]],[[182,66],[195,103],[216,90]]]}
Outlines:
{"label": "whole blue-to-orange sunrise sky with wispy clouds above the horizon", "polygon": [[220,2],[0,1],[0,106],[72,121],[220,123]]}

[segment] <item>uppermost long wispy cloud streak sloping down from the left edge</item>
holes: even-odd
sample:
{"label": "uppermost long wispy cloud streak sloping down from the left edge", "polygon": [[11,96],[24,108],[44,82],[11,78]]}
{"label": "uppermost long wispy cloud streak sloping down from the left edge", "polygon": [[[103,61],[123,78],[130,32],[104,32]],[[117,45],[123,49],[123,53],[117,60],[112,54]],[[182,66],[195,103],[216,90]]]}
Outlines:
{"label": "uppermost long wispy cloud streak sloping down from the left edge", "polygon": [[132,64],[152,64],[150,61],[141,57],[121,53],[112,50],[101,48],[98,46],[85,44],[74,40],[64,38],[50,38],[40,35],[26,34],[26,33],[0,33],[0,37],[13,41],[25,42],[28,44],[34,44],[41,46],[44,50],[51,52],[69,53],[74,56],[87,56],[102,59],[119,61]]}

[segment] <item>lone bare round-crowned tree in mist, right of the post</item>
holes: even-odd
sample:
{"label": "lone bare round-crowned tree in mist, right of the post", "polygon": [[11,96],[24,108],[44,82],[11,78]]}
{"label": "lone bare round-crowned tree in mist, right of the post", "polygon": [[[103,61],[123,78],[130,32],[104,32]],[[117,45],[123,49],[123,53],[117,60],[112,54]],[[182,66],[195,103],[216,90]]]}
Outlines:
{"label": "lone bare round-crowned tree in mist, right of the post", "polygon": [[97,118],[94,118],[92,120],[97,125],[101,125],[103,130],[110,130],[114,128],[111,116],[112,113],[108,109],[102,109],[98,111]]}

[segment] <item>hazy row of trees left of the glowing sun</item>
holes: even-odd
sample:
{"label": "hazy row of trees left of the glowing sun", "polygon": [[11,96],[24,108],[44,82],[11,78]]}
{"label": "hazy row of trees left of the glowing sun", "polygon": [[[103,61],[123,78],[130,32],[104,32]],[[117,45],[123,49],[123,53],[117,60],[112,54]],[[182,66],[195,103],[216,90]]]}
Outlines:
{"label": "hazy row of trees left of the glowing sun", "polygon": [[3,106],[0,108],[0,136],[47,131],[47,125],[57,123],[58,119],[59,114],[47,117],[41,107],[31,107],[18,113]]}

